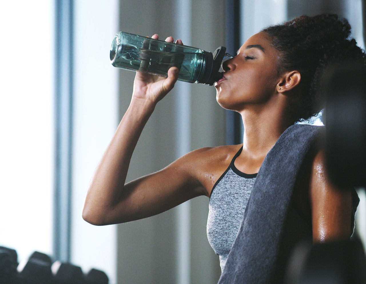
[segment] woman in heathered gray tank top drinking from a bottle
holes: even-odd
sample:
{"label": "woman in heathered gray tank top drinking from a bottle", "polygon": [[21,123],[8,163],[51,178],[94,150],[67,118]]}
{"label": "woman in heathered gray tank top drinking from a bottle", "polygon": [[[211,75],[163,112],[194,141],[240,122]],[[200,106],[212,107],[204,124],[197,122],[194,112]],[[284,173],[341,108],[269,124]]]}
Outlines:
{"label": "woman in heathered gray tank top drinking from a bottle", "polygon": [[[253,35],[223,63],[223,79],[215,84],[217,102],[243,118],[243,144],[195,150],[161,171],[124,184],[142,129],[178,76],[175,67],[167,78],[137,72],[130,106],[91,181],[83,218],[95,225],[123,223],[196,196],[211,197],[208,237],[224,268],[266,155],[286,129],[320,110],[316,86],[322,67],[347,58],[365,61],[349,35],[347,20],[336,15],[302,16]],[[310,224],[306,230],[314,242],[350,238],[356,197],[330,183],[320,149],[313,147],[306,157],[291,208],[301,216],[304,228]],[[239,188],[231,188],[231,181],[240,178]],[[217,210],[230,217],[220,219],[213,213]],[[287,256],[288,252],[279,261],[280,274]]]}

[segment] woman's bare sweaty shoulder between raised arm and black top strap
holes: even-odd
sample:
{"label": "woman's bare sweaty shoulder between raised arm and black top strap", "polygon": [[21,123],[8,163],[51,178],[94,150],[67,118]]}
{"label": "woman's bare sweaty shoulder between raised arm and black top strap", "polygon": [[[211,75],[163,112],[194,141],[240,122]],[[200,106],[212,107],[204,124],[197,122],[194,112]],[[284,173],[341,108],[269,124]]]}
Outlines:
{"label": "woman's bare sweaty shoulder between raised arm and black top strap", "polygon": [[178,159],[176,163],[188,172],[210,196],[213,185],[229,166],[242,145],[206,147],[194,150]]}

